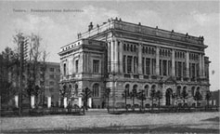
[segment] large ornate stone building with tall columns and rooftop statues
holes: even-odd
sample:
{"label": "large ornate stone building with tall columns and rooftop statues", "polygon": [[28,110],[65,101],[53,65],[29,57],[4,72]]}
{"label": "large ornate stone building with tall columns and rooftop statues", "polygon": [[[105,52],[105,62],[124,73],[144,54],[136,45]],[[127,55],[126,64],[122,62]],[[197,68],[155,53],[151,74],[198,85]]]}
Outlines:
{"label": "large ornate stone building with tall columns and rooftop statues", "polygon": [[[183,103],[172,93],[193,95],[209,90],[209,59],[203,37],[109,19],[102,25],[89,25],[78,40],[61,48],[61,85],[71,91],[73,103],[81,105],[80,92],[92,90],[92,107],[103,106],[103,92],[110,88],[110,105],[124,102],[122,93],[145,90],[145,104],[151,105],[152,89],[162,92],[161,105]],[[80,100],[80,102],[79,102]],[[131,100],[128,99],[128,104]],[[155,102],[156,103],[156,102]],[[140,100],[135,100],[140,104]]]}

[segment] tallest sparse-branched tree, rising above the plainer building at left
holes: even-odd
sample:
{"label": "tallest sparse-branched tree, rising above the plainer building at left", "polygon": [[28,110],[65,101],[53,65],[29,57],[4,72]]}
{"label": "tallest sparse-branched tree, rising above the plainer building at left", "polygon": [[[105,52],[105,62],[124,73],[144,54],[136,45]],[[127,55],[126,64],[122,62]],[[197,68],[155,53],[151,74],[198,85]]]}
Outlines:
{"label": "tallest sparse-branched tree, rising above the plainer building at left", "polygon": [[[47,57],[46,51],[41,50],[42,38],[39,35],[24,35],[22,33],[17,33],[13,38],[14,43],[18,44],[17,50],[21,52],[19,56],[20,62],[23,63],[22,75],[26,77],[24,85],[25,95],[29,99],[31,95],[35,95],[36,106],[38,106],[38,98],[42,93],[42,88],[40,87],[40,67],[43,66],[45,68]],[[23,43],[23,47],[21,47],[20,42]],[[43,73],[45,74],[44,70]]]}

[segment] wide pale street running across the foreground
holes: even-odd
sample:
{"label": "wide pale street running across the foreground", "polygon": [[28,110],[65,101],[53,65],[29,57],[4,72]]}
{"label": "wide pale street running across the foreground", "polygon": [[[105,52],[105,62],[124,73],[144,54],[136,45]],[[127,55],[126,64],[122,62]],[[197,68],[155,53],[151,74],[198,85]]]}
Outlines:
{"label": "wide pale street running across the foreground", "polygon": [[[87,111],[85,116],[53,115],[1,118],[1,132],[80,132],[99,128],[137,129],[141,132],[219,132],[218,112],[107,114],[104,110]],[[147,130],[146,130],[147,128]],[[160,130],[161,128],[164,128]],[[75,130],[75,131],[74,131]],[[77,131],[76,131],[77,130]],[[149,130],[149,131],[148,131]],[[153,130],[153,131],[151,131]],[[178,131],[176,131],[178,130]],[[110,132],[115,132],[110,131]],[[126,131],[122,131],[126,132]],[[136,131],[134,131],[136,132]],[[139,131],[138,131],[139,132]]]}

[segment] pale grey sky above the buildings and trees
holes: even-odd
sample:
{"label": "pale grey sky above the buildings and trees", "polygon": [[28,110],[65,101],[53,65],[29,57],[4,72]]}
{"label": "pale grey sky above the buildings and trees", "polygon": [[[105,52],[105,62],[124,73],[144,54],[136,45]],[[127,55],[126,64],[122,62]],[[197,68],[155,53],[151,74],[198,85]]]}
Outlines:
{"label": "pale grey sky above the buildings and trees", "polygon": [[204,36],[211,61],[210,90],[220,89],[218,1],[0,1],[0,17],[0,52],[7,46],[15,48],[12,37],[16,33],[34,33],[41,36],[51,62],[60,61],[60,47],[76,41],[77,33],[87,31],[90,22],[97,25],[115,17]]}

